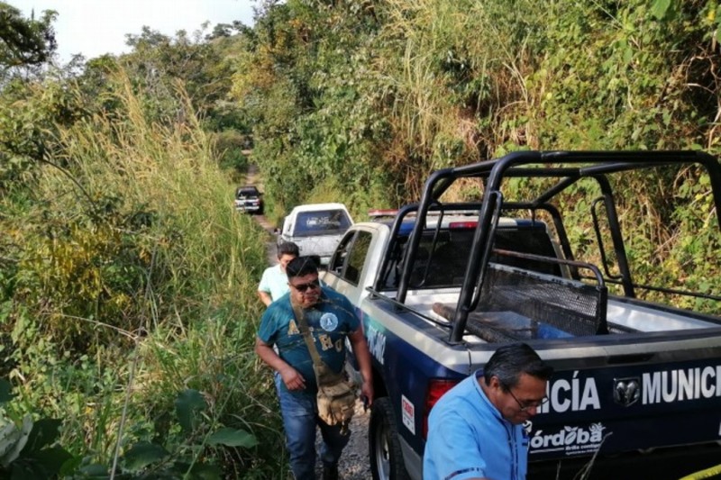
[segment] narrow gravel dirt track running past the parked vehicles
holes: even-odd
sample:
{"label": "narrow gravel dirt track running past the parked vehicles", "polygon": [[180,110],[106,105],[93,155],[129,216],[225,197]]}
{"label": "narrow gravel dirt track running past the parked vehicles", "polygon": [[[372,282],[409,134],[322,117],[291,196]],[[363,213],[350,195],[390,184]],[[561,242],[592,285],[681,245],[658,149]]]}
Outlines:
{"label": "narrow gravel dirt track running past the parked vehicles", "polygon": [[[263,192],[262,181],[258,168],[251,164],[245,177],[246,185],[257,186]],[[278,262],[276,258],[276,241],[273,237],[273,231],[276,226],[271,224],[265,215],[254,215],[256,222],[260,223],[265,231],[269,232],[271,239],[267,245],[269,265],[275,265]],[[368,455],[368,423],[370,412],[363,411],[363,403],[360,400],[356,403],[355,416],[351,420],[351,439],[346,448],[343,449],[343,455],[338,465],[338,473],[343,480],[368,480],[370,475],[370,458]],[[316,439],[316,448],[320,447],[320,432]],[[320,463],[317,468],[317,475],[321,475]]]}

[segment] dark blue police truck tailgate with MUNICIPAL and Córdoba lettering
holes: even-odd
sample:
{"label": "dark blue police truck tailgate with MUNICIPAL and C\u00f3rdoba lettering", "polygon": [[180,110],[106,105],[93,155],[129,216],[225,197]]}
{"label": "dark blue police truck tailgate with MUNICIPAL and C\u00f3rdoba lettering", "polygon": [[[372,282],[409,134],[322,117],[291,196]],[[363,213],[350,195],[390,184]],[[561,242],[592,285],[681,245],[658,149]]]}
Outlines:
{"label": "dark blue police truck tailgate with MUNICIPAL and C\u00f3rdoba lettering", "polygon": [[710,355],[714,350],[687,361],[652,363],[654,355],[638,354],[607,358],[605,367],[557,369],[549,401],[528,425],[529,459],[721,440],[721,361],[717,351]]}

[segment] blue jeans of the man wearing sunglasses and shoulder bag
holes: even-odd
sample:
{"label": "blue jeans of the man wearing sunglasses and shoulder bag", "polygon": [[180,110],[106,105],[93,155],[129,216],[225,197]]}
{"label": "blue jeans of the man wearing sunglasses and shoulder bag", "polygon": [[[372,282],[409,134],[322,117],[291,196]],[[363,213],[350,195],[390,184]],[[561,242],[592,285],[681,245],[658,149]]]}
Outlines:
{"label": "blue jeans of the man wearing sunglasses and shoulder bag", "polygon": [[341,434],[341,426],[330,426],[318,418],[315,394],[291,394],[281,389],[283,379],[275,373],[280,413],[286,430],[290,468],[296,480],[315,480],[315,426],[321,430],[321,460],[326,466],[338,464],[351,432]]}

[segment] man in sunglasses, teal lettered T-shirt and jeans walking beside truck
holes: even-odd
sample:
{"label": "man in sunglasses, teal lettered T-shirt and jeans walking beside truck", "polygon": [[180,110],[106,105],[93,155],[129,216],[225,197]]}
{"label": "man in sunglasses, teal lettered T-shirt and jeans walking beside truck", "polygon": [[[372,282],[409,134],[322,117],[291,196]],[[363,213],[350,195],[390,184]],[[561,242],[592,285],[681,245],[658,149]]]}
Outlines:
{"label": "man in sunglasses, teal lettered T-shirt and jeans walking beside truck", "polygon": [[328,425],[318,417],[313,358],[298,327],[295,311],[306,319],[318,355],[333,372],[342,371],[345,339],[351,341],[363,377],[360,391],[368,403],[373,402],[370,352],[353,305],[342,294],[321,285],[312,259],[296,258],[287,265],[286,272],[290,293],[270,303],[263,314],[255,351],[276,372],[290,467],[296,480],[315,480],[316,425],[323,436],[320,457],[324,480],[336,480],[338,459],[350,439],[350,432],[340,424]]}

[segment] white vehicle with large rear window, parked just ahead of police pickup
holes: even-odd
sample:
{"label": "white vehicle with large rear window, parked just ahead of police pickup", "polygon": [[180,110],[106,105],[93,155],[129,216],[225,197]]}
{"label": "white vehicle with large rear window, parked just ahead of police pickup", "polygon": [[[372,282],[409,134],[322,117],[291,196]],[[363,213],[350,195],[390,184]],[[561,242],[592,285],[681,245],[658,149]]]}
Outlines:
{"label": "white vehicle with large rear window, parked just ahead of police pickup", "polygon": [[317,255],[321,265],[327,265],[338,241],[352,224],[344,204],[298,205],[283,221],[278,243],[292,241],[300,255]]}

